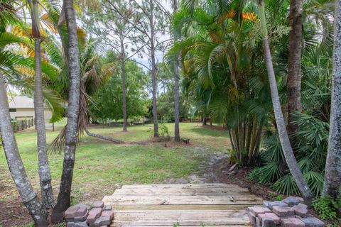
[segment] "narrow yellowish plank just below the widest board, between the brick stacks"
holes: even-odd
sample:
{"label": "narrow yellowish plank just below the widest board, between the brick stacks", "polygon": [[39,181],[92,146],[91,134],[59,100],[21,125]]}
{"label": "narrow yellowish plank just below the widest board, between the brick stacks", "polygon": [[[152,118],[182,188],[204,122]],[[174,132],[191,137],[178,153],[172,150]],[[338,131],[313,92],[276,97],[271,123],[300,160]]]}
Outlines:
{"label": "narrow yellowish plank just below the widest board, between the brick stacks", "polygon": [[[260,203],[259,203],[260,204]],[[106,204],[107,205],[107,204]],[[159,210],[244,210],[247,209],[249,204],[231,204],[231,205],[112,205],[112,209],[114,211],[124,211],[124,210],[151,210],[151,211],[159,211]]]}

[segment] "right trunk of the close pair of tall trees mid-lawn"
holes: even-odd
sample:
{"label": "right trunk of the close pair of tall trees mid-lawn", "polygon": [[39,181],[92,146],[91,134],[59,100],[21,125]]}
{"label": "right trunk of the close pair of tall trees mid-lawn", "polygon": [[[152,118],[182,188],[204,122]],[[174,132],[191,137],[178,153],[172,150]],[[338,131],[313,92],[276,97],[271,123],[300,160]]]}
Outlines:
{"label": "right trunk of the close pair of tall trees mid-lawn", "polygon": [[[173,0],[174,12],[178,9],[178,1]],[[176,39],[174,39],[175,41]],[[175,60],[174,65],[174,140],[180,142],[180,128],[179,128],[179,59]]]}

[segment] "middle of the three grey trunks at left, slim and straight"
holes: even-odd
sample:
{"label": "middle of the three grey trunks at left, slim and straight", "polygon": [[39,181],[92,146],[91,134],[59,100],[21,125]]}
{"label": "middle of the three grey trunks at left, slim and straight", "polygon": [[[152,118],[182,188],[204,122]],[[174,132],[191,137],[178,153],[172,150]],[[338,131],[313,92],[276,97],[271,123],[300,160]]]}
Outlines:
{"label": "middle of the three grey trunks at left, slim and straight", "polygon": [[43,199],[43,205],[46,209],[53,206],[53,189],[51,184],[50,167],[48,166],[48,153],[46,147],[46,129],[44,118],[43,101],[43,82],[41,78],[41,56],[40,39],[35,38],[35,59],[36,59],[36,77],[34,92],[34,114],[36,118],[37,129],[37,147],[38,147],[38,172],[40,177],[40,190]]}

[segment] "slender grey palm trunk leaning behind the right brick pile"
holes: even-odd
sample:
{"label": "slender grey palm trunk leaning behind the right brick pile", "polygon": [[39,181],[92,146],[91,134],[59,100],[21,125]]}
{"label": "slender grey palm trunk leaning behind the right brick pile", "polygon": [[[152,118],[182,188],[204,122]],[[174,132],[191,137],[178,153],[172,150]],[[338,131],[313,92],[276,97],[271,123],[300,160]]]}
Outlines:
{"label": "slender grey palm trunk leaning behind the right brick pile", "polygon": [[271,89],[271,98],[272,104],[274,106],[274,113],[276,118],[276,125],[278,129],[279,138],[281,140],[281,145],[283,149],[284,157],[286,158],[286,163],[289,167],[291,175],[293,175],[293,179],[295,180],[298,189],[305,199],[305,203],[308,205],[311,204],[311,200],[313,199],[313,194],[311,193],[308,184],[305,182],[305,179],[302,175],[300,168],[298,167],[296,157],[293,155],[293,148],[291,148],[291,143],[288,137],[288,133],[286,131],[286,123],[284,122],[283,113],[281,110],[281,103],[279,101],[278,89],[276,84],[274,66],[272,65],[271,60],[271,52],[269,47],[269,40],[266,28],[266,17],[265,17],[265,9],[264,9],[264,0],[259,0],[259,16],[261,18],[261,34],[263,36],[263,48],[265,55],[265,64],[266,70],[268,72],[270,89]]}

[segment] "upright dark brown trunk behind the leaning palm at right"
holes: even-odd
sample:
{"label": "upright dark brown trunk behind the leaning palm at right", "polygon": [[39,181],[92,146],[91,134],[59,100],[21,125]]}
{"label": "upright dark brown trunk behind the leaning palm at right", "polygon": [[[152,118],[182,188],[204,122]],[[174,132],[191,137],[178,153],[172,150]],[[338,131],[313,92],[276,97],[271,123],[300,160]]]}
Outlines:
{"label": "upright dark brown trunk behind the leaning palm at right", "polygon": [[288,53],[288,133],[298,130],[293,114],[301,111],[301,50],[303,0],[291,0],[289,53]]}

